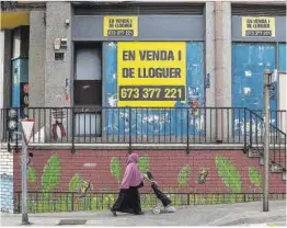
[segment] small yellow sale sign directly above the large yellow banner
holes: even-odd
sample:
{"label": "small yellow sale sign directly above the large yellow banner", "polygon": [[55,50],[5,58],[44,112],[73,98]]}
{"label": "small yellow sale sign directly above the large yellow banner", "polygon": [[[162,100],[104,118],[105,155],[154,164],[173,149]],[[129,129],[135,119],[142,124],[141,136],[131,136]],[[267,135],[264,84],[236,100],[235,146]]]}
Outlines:
{"label": "small yellow sale sign directly above the large yellow banner", "polygon": [[104,36],[138,36],[138,18],[104,16]]}

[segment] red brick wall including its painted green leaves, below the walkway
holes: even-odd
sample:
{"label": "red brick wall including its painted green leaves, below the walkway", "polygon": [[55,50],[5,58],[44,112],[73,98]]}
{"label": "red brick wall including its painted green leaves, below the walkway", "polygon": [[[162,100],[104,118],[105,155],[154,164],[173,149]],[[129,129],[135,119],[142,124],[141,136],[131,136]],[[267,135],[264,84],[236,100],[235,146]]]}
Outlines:
{"label": "red brick wall including its painted green leaves, below the walkway", "polygon": [[[141,157],[140,169],[149,169],[162,190],[196,193],[262,192],[263,167],[259,158],[248,158],[241,150],[196,150],[190,155],[184,150],[134,152]],[[21,191],[20,153],[14,156],[15,191]],[[88,181],[93,191],[117,191],[127,155],[124,150],[79,150],[73,155],[70,150],[33,151],[28,164],[28,190],[77,191],[82,181]],[[206,178],[204,170],[208,171]],[[271,193],[286,192],[282,173],[272,173],[269,183]],[[150,191],[148,183],[141,191]]]}

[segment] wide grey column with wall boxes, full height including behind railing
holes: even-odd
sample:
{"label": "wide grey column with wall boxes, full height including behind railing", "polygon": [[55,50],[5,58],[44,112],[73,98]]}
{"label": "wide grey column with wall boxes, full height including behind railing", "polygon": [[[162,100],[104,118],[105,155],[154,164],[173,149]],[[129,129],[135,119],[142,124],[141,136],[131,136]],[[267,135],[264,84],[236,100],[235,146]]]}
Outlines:
{"label": "wide grey column with wall boxes, full height including behind railing", "polygon": [[[66,83],[71,84],[73,72],[73,47],[71,42],[71,15],[70,2],[47,2],[46,4],[46,68],[45,68],[45,106],[69,107],[71,101],[66,99]],[[67,39],[67,47],[55,49],[55,39]],[[64,54],[62,59],[56,59],[55,54]],[[71,90],[72,87],[69,87]],[[69,91],[71,93],[71,91]],[[47,110],[46,136],[50,136],[51,126],[62,124],[68,136],[72,134],[70,110]],[[68,123],[69,122],[69,123]],[[59,136],[58,140],[61,140]],[[57,140],[45,137],[47,140]],[[67,138],[62,139],[67,141]]]}

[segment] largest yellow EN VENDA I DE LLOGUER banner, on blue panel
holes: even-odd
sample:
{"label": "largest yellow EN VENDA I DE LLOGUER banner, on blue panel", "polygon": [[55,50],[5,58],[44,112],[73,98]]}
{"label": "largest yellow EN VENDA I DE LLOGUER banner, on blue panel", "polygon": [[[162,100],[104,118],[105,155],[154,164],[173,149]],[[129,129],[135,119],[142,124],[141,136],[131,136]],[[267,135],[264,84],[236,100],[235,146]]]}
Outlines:
{"label": "largest yellow EN VENDA I DE LLOGUER banner, on blue panel", "polygon": [[119,42],[118,106],[172,107],[186,100],[185,42]]}

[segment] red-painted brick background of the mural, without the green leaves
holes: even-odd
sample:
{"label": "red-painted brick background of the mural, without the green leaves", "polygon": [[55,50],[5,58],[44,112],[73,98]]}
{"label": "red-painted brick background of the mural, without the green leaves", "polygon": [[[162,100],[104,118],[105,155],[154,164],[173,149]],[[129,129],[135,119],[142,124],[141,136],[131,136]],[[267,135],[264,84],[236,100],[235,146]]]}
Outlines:
{"label": "red-painted brick background of the mural, without the green leaves", "polygon": [[[128,156],[128,152],[124,150],[79,150],[76,153],[71,153],[70,150],[34,150],[32,152],[33,158],[31,158],[28,166],[35,171],[35,182],[28,182],[30,191],[43,190],[43,170],[51,156],[59,159],[60,168],[60,171],[57,172],[59,183],[53,187],[53,191],[69,191],[70,180],[76,173],[79,173],[84,180],[89,181],[93,185],[94,191],[117,191],[117,181],[111,173],[111,159],[118,158],[124,172]],[[150,171],[159,183],[160,189],[163,190],[197,193],[231,192],[231,187],[226,184],[227,178],[223,179],[220,176],[218,172],[219,168],[216,166],[216,157],[222,156],[233,167],[228,168],[229,171],[233,174],[238,172],[241,180],[241,192],[262,192],[263,167],[260,166],[259,158],[248,158],[241,150],[196,150],[191,151],[190,155],[186,155],[184,150],[140,150],[134,152],[149,157]],[[188,183],[185,186],[180,186],[177,182],[179,172],[185,166],[188,166],[191,171],[187,179]],[[14,191],[21,191],[20,167],[21,152],[14,156]],[[256,187],[251,181],[249,174],[251,167],[255,168],[261,174],[262,181],[260,187]],[[202,169],[208,170],[208,175],[204,184],[198,184],[197,179]],[[229,175],[230,180],[233,180],[233,174]],[[55,176],[50,178],[55,179]],[[44,181],[47,180],[49,179],[46,175]],[[286,181],[282,179],[282,173],[272,173],[269,183],[271,193],[286,193]],[[150,191],[148,182],[146,182],[141,191]]]}

